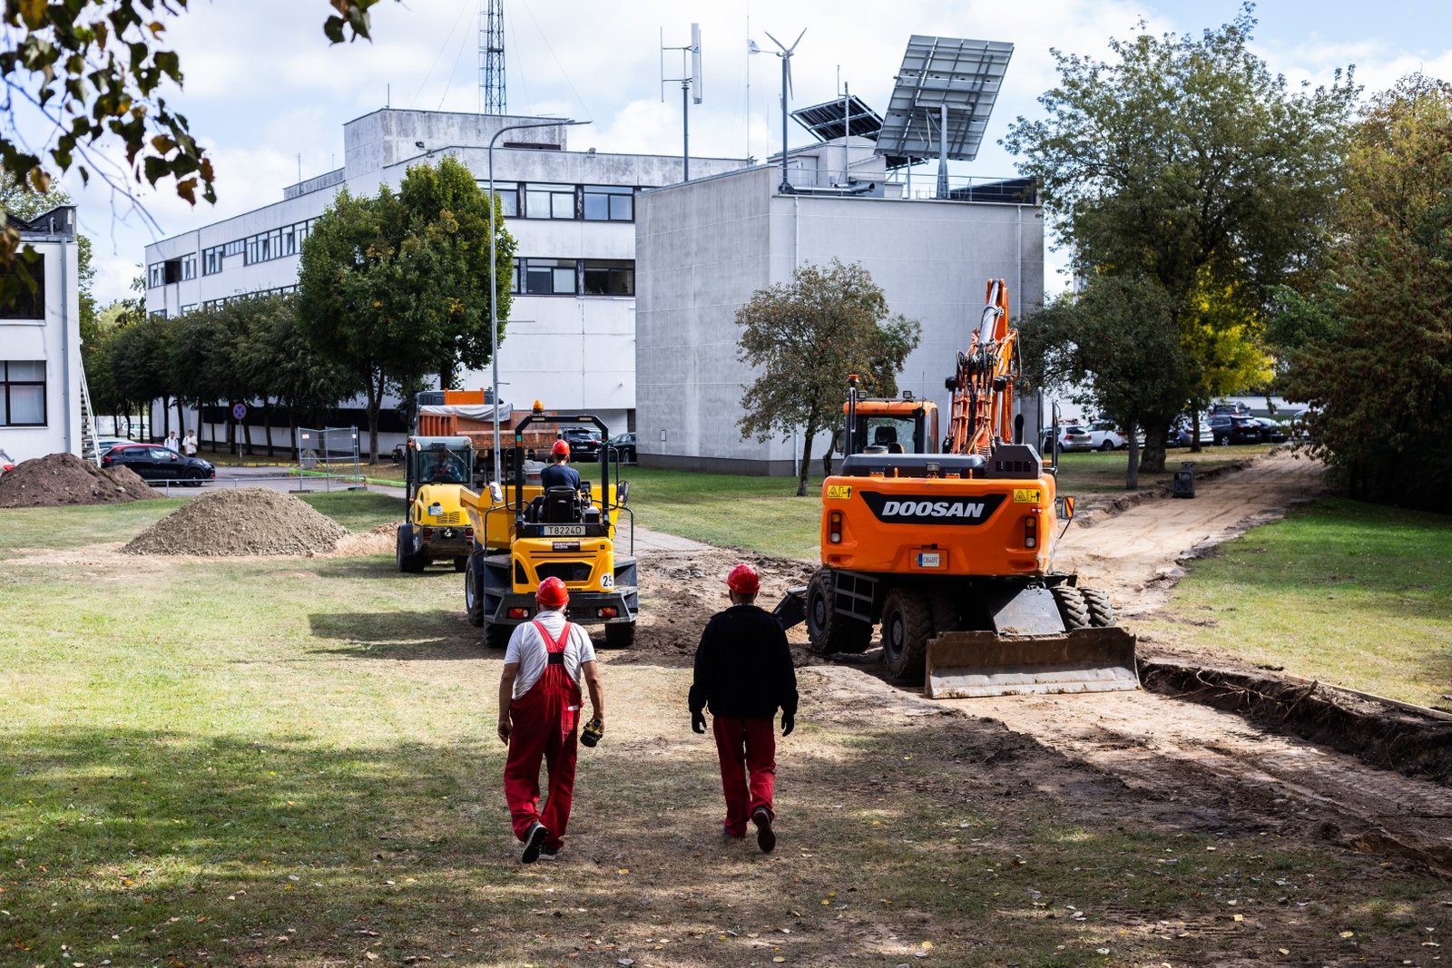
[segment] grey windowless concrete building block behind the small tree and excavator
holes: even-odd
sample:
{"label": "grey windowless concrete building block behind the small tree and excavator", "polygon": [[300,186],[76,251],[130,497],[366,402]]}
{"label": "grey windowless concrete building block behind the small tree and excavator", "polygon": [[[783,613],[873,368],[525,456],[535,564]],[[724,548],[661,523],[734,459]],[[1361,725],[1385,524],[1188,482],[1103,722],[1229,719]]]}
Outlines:
{"label": "grey windowless concrete building block behind the small tree and excavator", "polygon": [[[1009,286],[1018,319],[1044,292],[1041,208],[1016,183],[905,197],[871,142],[794,149],[762,165],[655,189],[636,219],[636,408],[643,464],[730,473],[794,473],[802,440],[742,440],[749,363],[738,360],[735,313],[797,267],[861,263],[892,313],[922,324],[899,387],[947,409],[944,377],[984,305],[989,279]],[[1008,186],[1008,187],[1005,187]],[[989,200],[983,200],[989,199]],[[845,387],[844,387],[845,393]],[[1032,418],[1028,425],[1032,427]],[[813,441],[822,454],[829,435]]]}

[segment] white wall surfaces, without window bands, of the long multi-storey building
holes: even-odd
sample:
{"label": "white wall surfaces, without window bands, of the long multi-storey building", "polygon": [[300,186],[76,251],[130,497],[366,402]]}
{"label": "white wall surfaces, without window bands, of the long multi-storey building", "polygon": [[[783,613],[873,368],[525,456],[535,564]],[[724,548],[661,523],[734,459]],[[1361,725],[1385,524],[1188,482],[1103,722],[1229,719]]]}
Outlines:
{"label": "white wall surfaces, without window bands, of the long multi-storey building", "polygon": [[[148,245],[148,266],[183,255],[199,261],[195,279],[148,289],[147,308],[176,315],[212,299],[295,286],[298,255],[253,266],[244,266],[241,254],[229,255],[224,258],[221,273],[203,274],[202,253],[231,239],[317,218],[343,186],[354,194],[373,194],[382,183],[398,187],[409,165],[437,163],[444,155],[466,164],[488,187],[491,138],[504,125],[537,120],[379,110],[347,122],[344,168],[338,173],[289,186],[283,202]],[[581,128],[574,134],[588,144],[588,128]],[[568,148],[569,134],[568,126],[558,125],[502,132],[492,152],[494,181],[661,186],[681,177],[682,160],[672,155],[504,147],[537,144]],[[709,177],[743,164],[735,158],[691,158],[691,171],[697,177]],[[508,218],[505,225],[517,241],[521,258],[636,258],[632,222]],[[637,287],[639,271],[637,264]],[[488,280],[479,280],[479,286],[486,287]],[[627,430],[636,408],[636,300],[621,296],[515,295],[511,302],[511,318],[499,345],[501,399],[526,406],[539,399],[552,409],[588,409],[600,414],[614,432]],[[492,369],[465,372],[459,380],[460,386],[470,389],[489,386]],[[388,440],[385,448],[393,443]]]}

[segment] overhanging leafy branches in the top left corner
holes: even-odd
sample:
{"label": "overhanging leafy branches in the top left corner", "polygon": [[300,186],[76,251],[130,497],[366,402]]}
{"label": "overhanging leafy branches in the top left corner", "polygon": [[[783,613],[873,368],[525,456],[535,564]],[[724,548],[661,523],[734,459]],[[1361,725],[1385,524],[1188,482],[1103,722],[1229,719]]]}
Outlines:
{"label": "overhanging leafy branches in the top left corner", "polygon": [[[369,7],[376,3],[328,0],[334,13],[324,33],[333,44],[367,38]],[[125,197],[142,179],[152,186],[170,179],[189,203],[196,205],[197,193],[215,202],[212,160],[186,116],[161,96],[168,81],[182,84],[182,61],[161,41],[166,20],[186,7],[187,0],[4,0],[0,171],[39,194],[74,170],[83,181],[103,179]],[[17,112],[54,132],[44,148],[33,149],[20,134]],[[102,154],[109,142],[119,142],[125,167]],[[26,261],[17,261],[20,251],[20,234],[4,226],[0,303],[35,289]]]}

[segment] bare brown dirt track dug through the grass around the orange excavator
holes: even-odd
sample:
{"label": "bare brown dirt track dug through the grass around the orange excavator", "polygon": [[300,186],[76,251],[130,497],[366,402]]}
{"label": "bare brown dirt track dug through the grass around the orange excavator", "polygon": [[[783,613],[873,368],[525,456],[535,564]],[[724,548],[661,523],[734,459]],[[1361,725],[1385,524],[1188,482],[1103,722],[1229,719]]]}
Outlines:
{"label": "bare brown dirt track dug through the grass around the orange excavator", "polygon": [[[1189,501],[1147,496],[1118,512],[1086,515],[1085,524],[1066,534],[1056,565],[1109,589],[1133,630],[1137,615],[1165,605],[1183,573],[1182,562],[1320,491],[1320,464],[1281,451],[1198,482]],[[645,602],[635,656],[674,656],[685,663],[706,617],[725,604],[720,581],[738,556],[688,543],[648,544],[637,551]],[[806,562],[746,557],[771,576],[762,601],[774,602],[812,570]],[[800,627],[793,639],[803,640]],[[883,702],[922,714],[928,704],[915,689],[887,686],[874,665],[823,665],[806,650],[799,660],[812,666],[800,676],[803,692],[817,707],[804,714],[835,718],[860,704]],[[966,731],[980,717],[1000,721],[1006,730],[999,742],[1013,747],[1015,758],[1024,756],[1018,749],[1024,737],[1060,755],[1038,756],[1025,769],[1032,771],[1035,785],[1057,788],[1072,801],[1077,797],[1074,810],[1140,810],[1144,816],[1137,820],[1150,826],[1173,820],[1215,832],[1255,829],[1329,840],[1452,875],[1452,792],[1446,787],[1268,731],[1240,715],[1150,691],[942,705],[961,717]],[[1430,729],[1442,727],[1432,723]],[[1443,731],[1452,733],[1452,723]],[[1098,782],[1104,775],[1141,795],[1134,804],[1106,800]]]}

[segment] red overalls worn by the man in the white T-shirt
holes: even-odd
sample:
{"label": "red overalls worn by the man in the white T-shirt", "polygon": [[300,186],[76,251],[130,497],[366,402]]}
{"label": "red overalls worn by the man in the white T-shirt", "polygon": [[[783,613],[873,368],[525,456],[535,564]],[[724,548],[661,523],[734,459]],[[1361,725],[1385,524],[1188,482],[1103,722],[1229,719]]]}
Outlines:
{"label": "red overalls worn by the man in the white T-shirt", "polygon": [[[575,753],[579,720],[579,684],[565,670],[569,623],[552,639],[539,621],[531,623],[544,641],[549,662],[529,692],[510,701],[510,756],[504,762],[504,800],[510,804],[514,836],[520,840],[536,820],[549,830],[546,850],[559,849],[569,824],[575,794]],[[540,758],[549,766],[549,795],[539,810]]]}

